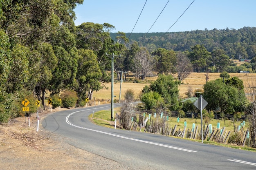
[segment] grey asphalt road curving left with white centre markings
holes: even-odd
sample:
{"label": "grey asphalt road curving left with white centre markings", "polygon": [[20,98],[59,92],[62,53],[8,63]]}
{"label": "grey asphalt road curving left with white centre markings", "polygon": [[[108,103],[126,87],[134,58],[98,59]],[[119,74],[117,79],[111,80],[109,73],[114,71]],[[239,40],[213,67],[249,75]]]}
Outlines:
{"label": "grey asphalt road curving left with white centre markings", "polygon": [[[120,106],[115,104],[114,107]],[[72,146],[135,169],[255,170],[256,153],[144,132],[97,126],[88,115],[110,105],[78,108],[45,117],[42,126]]]}

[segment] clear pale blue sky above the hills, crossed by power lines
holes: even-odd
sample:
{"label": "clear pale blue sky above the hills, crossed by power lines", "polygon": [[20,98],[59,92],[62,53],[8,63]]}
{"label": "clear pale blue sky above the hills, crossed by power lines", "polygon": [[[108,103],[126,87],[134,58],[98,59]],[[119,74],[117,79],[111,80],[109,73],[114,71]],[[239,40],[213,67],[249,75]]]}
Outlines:
{"label": "clear pale blue sky above the hills, crossed by power lines", "polygon": [[[106,22],[115,26],[112,32],[130,33],[145,2],[146,0],[84,0],[74,10],[75,24]],[[168,29],[168,32],[178,32],[256,26],[256,0],[169,0],[166,5],[167,2],[168,0],[147,0],[132,33],[147,33],[163,9],[149,33],[166,32]],[[180,15],[182,17],[175,23]]]}

